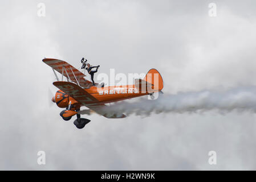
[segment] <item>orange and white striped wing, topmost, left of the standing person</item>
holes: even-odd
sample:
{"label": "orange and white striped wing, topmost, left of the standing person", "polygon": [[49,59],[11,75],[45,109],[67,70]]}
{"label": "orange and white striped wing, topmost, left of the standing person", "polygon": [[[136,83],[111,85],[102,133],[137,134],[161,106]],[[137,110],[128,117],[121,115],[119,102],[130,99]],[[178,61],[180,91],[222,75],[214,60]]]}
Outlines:
{"label": "orange and white striped wing, topmost, left of the standing person", "polygon": [[43,62],[58,71],[60,74],[69,78],[71,81],[79,84],[80,86],[83,86],[83,88],[90,88],[92,86],[92,82],[84,78],[86,75],[84,75],[78,69],[72,67],[72,65],[66,63],[65,61],[46,58],[43,59]]}

